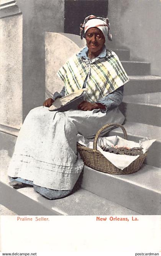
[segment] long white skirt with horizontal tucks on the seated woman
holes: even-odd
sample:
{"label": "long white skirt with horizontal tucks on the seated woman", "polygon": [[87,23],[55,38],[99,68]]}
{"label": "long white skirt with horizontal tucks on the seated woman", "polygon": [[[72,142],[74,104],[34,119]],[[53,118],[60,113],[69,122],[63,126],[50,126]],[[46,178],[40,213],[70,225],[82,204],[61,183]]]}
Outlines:
{"label": "long white skirt with horizontal tucks on the seated woman", "polygon": [[77,154],[76,135],[90,138],[104,124],[123,121],[118,108],[102,113],[97,109],[51,112],[47,107],[36,107],[21,127],[8,175],[41,187],[71,190],[84,166]]}

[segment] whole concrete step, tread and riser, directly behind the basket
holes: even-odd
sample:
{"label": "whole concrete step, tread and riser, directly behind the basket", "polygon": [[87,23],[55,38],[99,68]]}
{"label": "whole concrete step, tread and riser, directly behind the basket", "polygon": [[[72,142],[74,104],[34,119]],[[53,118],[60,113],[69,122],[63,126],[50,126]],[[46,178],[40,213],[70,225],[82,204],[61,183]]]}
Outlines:
{"label": "whole concrete step, tread and riser, directly behind the basket", "polygon": [[[149,139],[156,139],[156,141],[148,150],[145,164],[161,168],[161,127],[135,122],[125,122],[123,126],[126,129],[128,140],[139,142],[140,139],[146,137],[148,137]],[[120,137],[123,137],[123,132],[120,128],[116,128],[108,132],[106,135],[118,135]]]}

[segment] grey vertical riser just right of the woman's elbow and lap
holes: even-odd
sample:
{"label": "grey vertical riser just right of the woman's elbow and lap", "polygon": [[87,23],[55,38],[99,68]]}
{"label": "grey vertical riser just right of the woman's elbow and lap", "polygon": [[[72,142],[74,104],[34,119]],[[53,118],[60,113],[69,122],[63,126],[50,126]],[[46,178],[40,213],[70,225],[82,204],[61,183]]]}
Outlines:
{"label": "grey vertical riser just right of the woman's elbow and lap", "polygon": [[122,102],[119,109],[128,122],[161,126],[161,107]]}

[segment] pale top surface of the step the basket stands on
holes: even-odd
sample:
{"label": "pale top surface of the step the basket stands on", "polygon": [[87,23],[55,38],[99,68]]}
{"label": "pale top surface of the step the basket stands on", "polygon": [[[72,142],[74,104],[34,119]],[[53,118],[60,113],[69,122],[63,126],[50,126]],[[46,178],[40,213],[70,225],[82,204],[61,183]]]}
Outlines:
{"label": "pale top surface of the step the basket stands on", "polygon": [[[90,167],[85,168],[89,169]],[[92,168],[90,168],[92,169]],[[93,169],[93,171],[98,172]],[[142,187],[153,192],[161,194],[161,168],[157,168],[151,165],[143,165],[138,172],[125,174],[125,175],[113,175],[109,173],[99,172],[100,175],[104,175],[104,178],[107,176],[116,178],[118,180],[123,180],[125,182],[131,183],[138,187]]]}

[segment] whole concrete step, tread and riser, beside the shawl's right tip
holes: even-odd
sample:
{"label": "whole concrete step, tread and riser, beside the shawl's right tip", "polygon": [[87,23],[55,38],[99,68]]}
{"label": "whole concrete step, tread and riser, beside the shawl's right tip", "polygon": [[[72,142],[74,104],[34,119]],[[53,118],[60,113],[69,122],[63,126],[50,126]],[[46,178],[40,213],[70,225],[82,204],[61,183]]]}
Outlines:
{"label": "whole concrete step, tread and riser, beside the shawl's right tip", "polygon": [[161,92],[160,76],[129,76],[129,79],[124,86],[124,95]]}

